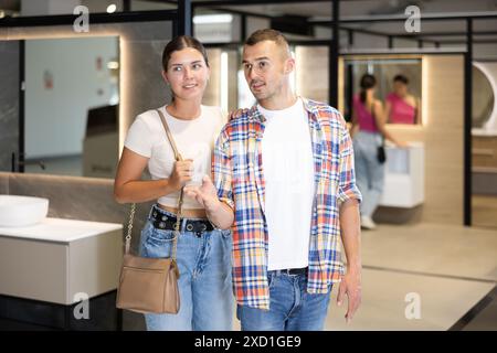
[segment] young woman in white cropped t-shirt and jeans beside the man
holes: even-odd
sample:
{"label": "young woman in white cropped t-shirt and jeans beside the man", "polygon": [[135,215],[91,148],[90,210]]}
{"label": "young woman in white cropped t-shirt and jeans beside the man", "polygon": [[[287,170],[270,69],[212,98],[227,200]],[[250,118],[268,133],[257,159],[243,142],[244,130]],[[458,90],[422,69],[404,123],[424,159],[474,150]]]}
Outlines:
{"label": "young woman in white cropped t-shirt and jeans beside the man", "polygon": [[[201,104],[210,68],[202,44],[190,36],[169,42],[162,76],[172,101],[160,107],[183,161],[176,161],[156,109],[140,114],[129,128],[115,179],[119,203],[157,200],[141,231],[140,256],[169,257],[178,199],[186,185],[213,188],[211,153],[225,115]],[[148,165],[151,180],[141,179]],[[178,314],[147,313],[148,330],[231,330],[231,232],[209,222],[207,205],[184,192],[177,242],[181,306]],[[199,199],[200,200],[200,199]],[[214,221],[214,220],[213,220]]]}

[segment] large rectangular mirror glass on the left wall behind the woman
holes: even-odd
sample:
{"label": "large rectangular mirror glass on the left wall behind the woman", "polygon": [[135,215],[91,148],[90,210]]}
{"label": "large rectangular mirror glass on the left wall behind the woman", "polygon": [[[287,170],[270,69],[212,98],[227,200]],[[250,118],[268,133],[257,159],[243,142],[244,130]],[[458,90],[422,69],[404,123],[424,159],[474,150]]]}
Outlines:
{"label": "large rectangular mirror glass on the left wall behind the woman", "polygon": [[114,178],[119,38],[24,41],[24,171]]}

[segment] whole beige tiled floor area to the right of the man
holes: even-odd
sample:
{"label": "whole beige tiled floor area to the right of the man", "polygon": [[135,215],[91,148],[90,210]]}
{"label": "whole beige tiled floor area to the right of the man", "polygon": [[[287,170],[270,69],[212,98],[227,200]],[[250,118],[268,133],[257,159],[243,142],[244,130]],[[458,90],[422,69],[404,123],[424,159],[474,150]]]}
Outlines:
{"label": "whole beige tiled floor area to the right of the man", "polygon": [[[483,300],[497,285],[497,229],[379,225],[362,232],[362,304],[353,321],[347,324],[346,306],[337,307],[337,285],[325,330],[497,329],[497,300]],[[408,295],[416,298],[419,319],[406,318],[415,312]],[[462,323],[468,311],[470,320]]]}

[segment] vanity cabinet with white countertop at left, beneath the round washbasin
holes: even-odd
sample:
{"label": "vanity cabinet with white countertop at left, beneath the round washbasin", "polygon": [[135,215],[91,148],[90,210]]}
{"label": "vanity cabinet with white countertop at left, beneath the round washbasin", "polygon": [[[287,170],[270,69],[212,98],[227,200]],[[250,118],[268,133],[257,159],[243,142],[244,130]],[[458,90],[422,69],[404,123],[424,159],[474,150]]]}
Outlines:
{"label": "vanity cabinet with white countertop at left, beneath the round washbasin", "polygon": [[0,227],[0,329],[119,330],[123,225]]}

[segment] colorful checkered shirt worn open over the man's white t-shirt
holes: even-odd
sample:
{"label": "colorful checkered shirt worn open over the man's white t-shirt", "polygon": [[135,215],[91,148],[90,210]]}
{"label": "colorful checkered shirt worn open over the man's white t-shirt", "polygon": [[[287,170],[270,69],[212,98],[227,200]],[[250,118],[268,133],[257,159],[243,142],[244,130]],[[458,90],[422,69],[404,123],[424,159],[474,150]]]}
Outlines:
{"label": "colorful checkered shirt worn open over the man's white t-shirt", "polygon": [[[305,98],[303,101],[308,114],[316,185],[307,292],[326,293],[328,285],[340,281],[343,275],[340,202],[360,202],[361,194],[356,186],[352,141],[342,116],[326,104]],[[218,195],[234,211],[232,260],[236,301],[258,309],[269,309],[262,165],[264,122],[257,106],[233,111],[218,138],[212,159]]]}

